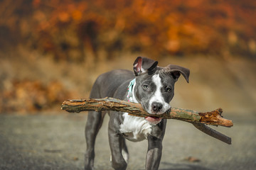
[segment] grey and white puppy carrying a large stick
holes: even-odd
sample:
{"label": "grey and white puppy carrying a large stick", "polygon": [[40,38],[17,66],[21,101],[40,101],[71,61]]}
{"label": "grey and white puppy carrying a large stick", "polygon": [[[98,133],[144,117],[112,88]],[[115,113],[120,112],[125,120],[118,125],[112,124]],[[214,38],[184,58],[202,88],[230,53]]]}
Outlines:
{"label": "grey and white puppy carrying a large stick", "polygon": [[[163,114],[170,111],[174,97],[174,84],[180,77],[188,82],[189,69],[169,64],[158,67],[158,62],[146,57],[137,57],[134,72],[117,69],[101,74],[92,86],[90,98],[113,97],[142,104],[149,114]],[[85,127],[87,150],[85,169],[93,169],[95,159],[95,138],[102,125],[105,111],[90,111]],[[110,122],[108,137],[111,162],[114,169],[126,169],[129,159],[125,140],[139,142],[148,140],[146,169],[158,169],[161,161],[162,140],[166,129],[166,119],[156,117],[136,117],[128,113],[108,112]]]}

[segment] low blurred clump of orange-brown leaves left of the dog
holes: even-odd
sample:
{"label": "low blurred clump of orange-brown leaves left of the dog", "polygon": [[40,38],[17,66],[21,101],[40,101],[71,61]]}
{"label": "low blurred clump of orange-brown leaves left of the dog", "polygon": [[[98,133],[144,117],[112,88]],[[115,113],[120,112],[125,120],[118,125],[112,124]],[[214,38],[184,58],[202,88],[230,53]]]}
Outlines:
{"label": "low blurred clump of orange-brown leaves left of the dog", "polygon": [[70,97],[58,81],[43,84],[41,81],[12,81],[11,87],[0,96],[0,113],[35,112],[59,106],[65,98]]}

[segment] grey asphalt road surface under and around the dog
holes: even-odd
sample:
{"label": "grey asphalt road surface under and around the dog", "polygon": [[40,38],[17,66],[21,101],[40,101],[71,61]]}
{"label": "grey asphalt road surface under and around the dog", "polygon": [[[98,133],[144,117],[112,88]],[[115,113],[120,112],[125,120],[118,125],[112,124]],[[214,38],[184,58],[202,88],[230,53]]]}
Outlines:
{"label": "grey asphalt road surface under and around the dog", "polygon": [[[0,169],[83,169],[86,118],[86,113],[63,112],[0,115]],[[203,134],[189,123],[169,120],[159,169],[255,169],[256,116],[228,114],[225,118],[233,120],[233,128],[213,128],[232,137],[232,145]],[[111,169],[107,119],[96,141],[95,169]],[[127,169],[144,169],[147,142],[127,145]]]}

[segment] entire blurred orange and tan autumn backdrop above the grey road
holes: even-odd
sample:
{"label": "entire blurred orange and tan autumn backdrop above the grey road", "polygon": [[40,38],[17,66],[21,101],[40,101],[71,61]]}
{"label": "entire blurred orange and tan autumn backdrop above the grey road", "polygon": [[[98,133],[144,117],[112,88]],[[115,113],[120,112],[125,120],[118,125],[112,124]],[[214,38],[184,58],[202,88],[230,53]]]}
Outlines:
{"label": "entire blurred orange and tan autumn backdrop above the grey road", "polygon": [[0,113],[60,113],[137,56],[191,69],[172,106],[256,112],[254,0],[2,0]]}

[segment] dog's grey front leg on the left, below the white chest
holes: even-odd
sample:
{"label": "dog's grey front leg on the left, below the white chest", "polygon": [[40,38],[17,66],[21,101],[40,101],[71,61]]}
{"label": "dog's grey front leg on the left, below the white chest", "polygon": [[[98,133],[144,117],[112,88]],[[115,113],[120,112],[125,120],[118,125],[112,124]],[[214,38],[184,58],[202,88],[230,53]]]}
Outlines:
{"label": "dog's grey front leg on the left, below the white chest", "polygon": [[109,125],[108,135],[110,141],[111,157],[112,157],[112,167],[118,170],[127,169],[127,162],[125,162],[122,156],[122,135],[119,135],[114,129]]}

